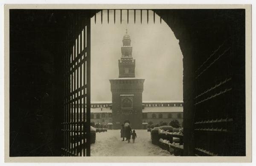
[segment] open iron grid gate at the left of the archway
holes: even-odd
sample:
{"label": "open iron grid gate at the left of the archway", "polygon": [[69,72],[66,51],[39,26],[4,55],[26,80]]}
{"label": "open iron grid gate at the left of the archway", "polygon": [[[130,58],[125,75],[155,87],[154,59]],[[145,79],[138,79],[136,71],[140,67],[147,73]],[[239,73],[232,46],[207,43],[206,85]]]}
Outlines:
{"label": "open iron grid gate at the left of the archway", "polygon": [[[70,18],[67,34],[67,51],[64,58],[64,144],[65,156],[90,156],[90,107],[78,107],[90,104],[90,19],[82,19],[77,12]],[[88,56],[87,56],[88,55]],[[88,77],[89,76],[89,77]],[[87,81],[87,82],[86,82]],[[89,86],[89,87],[88,87]],[[87,100],[85,100],[87,98]],[[85,149],[87,149],[85,151]]]}

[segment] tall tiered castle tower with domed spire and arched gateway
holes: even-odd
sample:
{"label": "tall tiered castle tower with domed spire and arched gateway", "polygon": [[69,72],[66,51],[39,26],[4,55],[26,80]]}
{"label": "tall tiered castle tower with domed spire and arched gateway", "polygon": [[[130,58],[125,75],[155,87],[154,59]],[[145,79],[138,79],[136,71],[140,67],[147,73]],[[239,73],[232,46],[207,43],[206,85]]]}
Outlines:
{"label": "tall tiered castle tower with domed spire and arched gateway", "polygon": [[133,129],[142,129],[142,93],[145,79],[135,78],[135,59],[132,57],[131,37],[122,39],[122,56],[118,60],[119,78],[110,79],[112,92],[113,129],[129,122]]}

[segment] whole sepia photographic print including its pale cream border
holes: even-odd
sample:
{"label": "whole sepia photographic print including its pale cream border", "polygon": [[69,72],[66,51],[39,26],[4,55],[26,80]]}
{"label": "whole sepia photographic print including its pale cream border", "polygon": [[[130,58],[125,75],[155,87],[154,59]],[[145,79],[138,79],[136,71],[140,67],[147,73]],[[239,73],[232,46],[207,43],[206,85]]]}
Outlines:
{"label": "whole sepia photographic print including its pale cream border", "polygon": [[250,10],[5,6],[6,162],[249,162]]}

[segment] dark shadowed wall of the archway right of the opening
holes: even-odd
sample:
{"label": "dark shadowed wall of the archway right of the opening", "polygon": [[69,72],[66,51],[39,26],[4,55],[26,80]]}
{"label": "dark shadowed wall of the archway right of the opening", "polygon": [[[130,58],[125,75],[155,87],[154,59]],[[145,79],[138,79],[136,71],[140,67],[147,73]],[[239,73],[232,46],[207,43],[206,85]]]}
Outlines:
{"label": "dark shadowed wall of the archway right of the opening", "polygon": [[[196,149],[200,148],[202,139],[209,142],[216,139],[218,143],[204,148],[211,151],[224,147],[227,150],[219,150],[218,155],[244,156],[245,10],[153,11],[163,18],[179,39],[183,54],[184,155],[198,155]],[[217,85],[220,89],[216,93],[203,93]],[[206,114],[207,110],[212,110],[212,113]],[[224,138],[221,138],[217,132],[203,134],[197,130],[196,122],[212,119],[233,121],[232,127],[227,129],[232,134],[222,132]]]}

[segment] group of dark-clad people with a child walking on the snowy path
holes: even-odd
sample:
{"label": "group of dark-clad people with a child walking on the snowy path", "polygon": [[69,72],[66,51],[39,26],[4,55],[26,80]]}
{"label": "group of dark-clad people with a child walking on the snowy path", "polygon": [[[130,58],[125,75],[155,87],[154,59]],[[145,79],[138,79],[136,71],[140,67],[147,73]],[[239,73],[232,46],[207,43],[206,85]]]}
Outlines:
{"label": "group of dark-clad people with a child walking on the snowy path", "polygon": [[131,136],[132,136],[132,143],[134,143],[135,138],[137,138],[137,134],[135,130],[131,131],[130,124],[128,123],[126,123],[125,125],[122,124],[122,128],[121,128],[121,138],[123,138],[122,141],[128,141],[128,143],[130,143]]}

